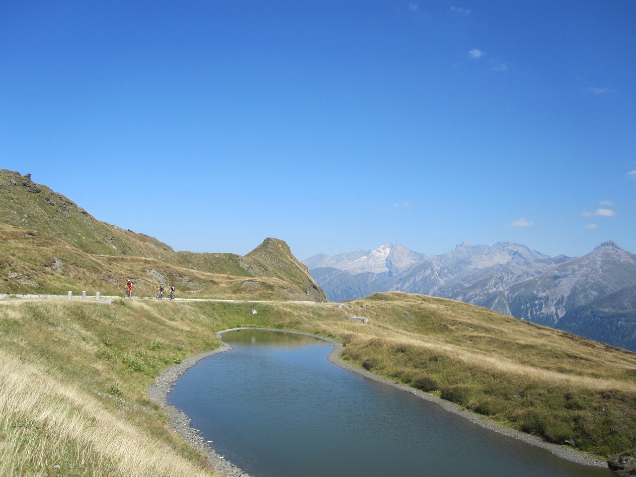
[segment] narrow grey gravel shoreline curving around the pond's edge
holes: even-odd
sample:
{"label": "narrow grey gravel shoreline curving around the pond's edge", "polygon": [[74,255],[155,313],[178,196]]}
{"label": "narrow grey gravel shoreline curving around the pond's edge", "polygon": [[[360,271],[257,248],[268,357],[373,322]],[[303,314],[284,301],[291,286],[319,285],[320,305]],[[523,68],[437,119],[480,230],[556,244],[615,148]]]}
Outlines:
{"label": "narrow grey gravel shoreline curving around the pond's edge", "polygon": [[[225,329],[223,331],[219,331],[216,333],[217,338],[221,339],[221,335],[226,331],[235,331],[236,329],[255,329],[255,328],[232,328]],[[263,328],[259,328],[263,329]],[[272,330],[272,331],[283,331],[283,330]],[[543,441],[541,438],[537,438],[536,436],[531,436],[530,434],[525,434],[525,432],[515,431],[514,429],[508,429],[507,427],[503,427],[502,425],[491,422],[480,415],[472,413],[470,411],[462,410],[459,405],[450,403],[448,401],[444,401],[443,399],[432,396],[427,392],[418,391],[417,389],[413,389],[411,387],[405,386],[403,384],[396,383],[392,380],[388,380],[386,378],[379,377],[374,375],[370,371],[361,370],[360,368],[356,368],[351,366],[350,364],[345,363],[338,357],[340,351],[342,351],[342,344],[336,342],[335,340],[331,340],[329,338],[323,338],[322,336],[310,335],[309,333],[298,333],[296,331],[286,331],[286,333],[296,333],[299,335],[307,335],[314,336],[315,338],[320,338],[321,340],[325,340],[333,345],[333,350],[329,353],[328,359],[331,363],[336,364],[336,366],[340,366],[345,370],[352,371],[354,373],[358,373],[359,375],[364,376],[365,378],[382,382],[385,384],[389,384],[397,389],[402,389],[403,391],[410,392],[411,394],[415,394],[415,396],[420,397],[421,399],[426,399],[427,401],[432,401],[436,404],[439,404],[446,411],[452,412],[454,414],[460,415],[461,417],[466,418],[467,420],[473,422],[474,424],[480,425],[485,429],[489,429],[490,431],[497,432],[504,436],[508,436],[511,438],[518,439],[526,444],[543,448],[553,453],[557,457],[562,459],[569,460],[570,462],[575,462],[577,464],[583,464],[584,466],[592,466],[592,467],[605,467],[607,468],[607,462],[605,460],[597,459],[583,452],[579,452],[573,448],[551,444],[546,441]],[[222,455],[216,453],[216,450],[211,446],[211,442],[205,441],[204,438],[199,434],[197,429],[193,429],[190,427],[190,418],[186,416],[183,412],[177,410],[173,406],[168,404],[168,393],[172,389],[172,387],[176,384],[177,380],[183,373],[188,370],[191,366],[197,363],[200,359],[204,359],[205,357],[212,356],[212,354],[221,353],[224,351],[231,350],[232,347],[224,344],[216,350],[208,351],[205,353],[198,354],[197,356],[191,356],[176,366],[172,366],[171,368],[163,371],[148,387],[148,396],[149,398],[158,404],[162,411],[164,411],[167,415],[168,424],[172,429],[174,429],[179,435],[185,439],[195,450],[202,453],[204,455],[205,460],[213,469],[216,469],[220,473],[228,476],[228,477],[250,477],[249,474],[244,473],[242,469],[232,464]]]}

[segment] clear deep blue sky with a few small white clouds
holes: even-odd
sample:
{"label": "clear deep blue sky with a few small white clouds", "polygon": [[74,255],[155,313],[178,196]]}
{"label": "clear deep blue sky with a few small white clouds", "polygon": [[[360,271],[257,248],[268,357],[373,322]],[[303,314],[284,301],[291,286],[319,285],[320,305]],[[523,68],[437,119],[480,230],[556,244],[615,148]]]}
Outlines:
{"label": "clear deep blue sky with a few small white clouds", "polygon": [[636,2],[4,0],[0,168],[176,250],[636,253]]}

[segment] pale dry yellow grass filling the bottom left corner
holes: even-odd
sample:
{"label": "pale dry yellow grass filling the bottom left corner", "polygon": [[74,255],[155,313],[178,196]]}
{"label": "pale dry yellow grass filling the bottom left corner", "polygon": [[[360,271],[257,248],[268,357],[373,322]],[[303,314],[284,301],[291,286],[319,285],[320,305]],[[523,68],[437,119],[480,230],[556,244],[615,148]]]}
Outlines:
{"label": "pale dry yellow grass filling the bottom left corner", "polygon": [[128,424],[85,391],[3,351],[0,382],[3,476],[56,472],[131,477],[214,475]]}

